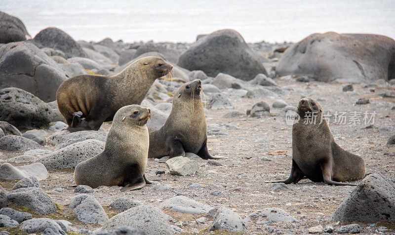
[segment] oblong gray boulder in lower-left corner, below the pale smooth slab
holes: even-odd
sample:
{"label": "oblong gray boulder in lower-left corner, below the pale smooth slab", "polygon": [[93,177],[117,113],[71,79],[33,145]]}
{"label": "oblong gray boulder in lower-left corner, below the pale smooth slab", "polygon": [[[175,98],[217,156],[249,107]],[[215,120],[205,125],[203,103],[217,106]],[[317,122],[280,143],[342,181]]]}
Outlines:
{"label": "oblong gray boulder in lower-left corner, below the pale smooth slab", "polygon": [[29,207],[30,209],[47,215],[56,212],[56,205],[51,198],[40,188],[21,188],[7,194],[10,202]]}

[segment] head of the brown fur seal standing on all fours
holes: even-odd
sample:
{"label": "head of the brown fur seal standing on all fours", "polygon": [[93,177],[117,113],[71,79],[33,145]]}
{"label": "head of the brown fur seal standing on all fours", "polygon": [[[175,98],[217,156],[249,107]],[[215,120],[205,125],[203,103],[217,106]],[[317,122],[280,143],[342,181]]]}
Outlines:
{"label": "head of the brown fur seal standing on all fours", "polygon": [[137,60],[135,63],[141,65],[145,71],[153,73],[157,78],[167,75],[172,69],[173,66],[162,58],[155,56],[147,56]]}

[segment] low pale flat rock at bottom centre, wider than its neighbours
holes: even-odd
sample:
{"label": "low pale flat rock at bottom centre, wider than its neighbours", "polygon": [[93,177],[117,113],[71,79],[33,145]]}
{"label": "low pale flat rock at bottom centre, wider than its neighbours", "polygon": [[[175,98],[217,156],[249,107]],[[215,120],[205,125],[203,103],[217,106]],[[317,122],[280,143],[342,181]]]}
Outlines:
{"label": "low pale flat rock at bottom centre, wider than its neighbours", "polygon": [[197,202],[186,196],[174,196],[160,203],[162,210],[171,210],[185,214],[205,214],[214,207]]}

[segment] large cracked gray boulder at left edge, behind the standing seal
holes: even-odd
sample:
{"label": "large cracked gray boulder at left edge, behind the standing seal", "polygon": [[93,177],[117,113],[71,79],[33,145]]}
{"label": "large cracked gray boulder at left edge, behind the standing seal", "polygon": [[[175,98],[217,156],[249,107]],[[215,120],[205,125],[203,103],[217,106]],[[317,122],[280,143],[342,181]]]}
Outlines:
{"label": "large cracked gray boulder at left edge, behind the standing seal", "polygon": [[68,75],[37,46],[25,41],[0,47],[0,89],[18,87],[45,102],[56,99]]}

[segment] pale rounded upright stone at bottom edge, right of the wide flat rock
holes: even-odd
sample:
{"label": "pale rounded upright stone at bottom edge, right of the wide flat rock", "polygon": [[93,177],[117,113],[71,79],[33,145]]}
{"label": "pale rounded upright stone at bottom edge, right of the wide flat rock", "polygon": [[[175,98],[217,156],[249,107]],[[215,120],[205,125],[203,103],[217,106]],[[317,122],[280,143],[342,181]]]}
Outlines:
{"label": "pale rounded upright stone at bottom edge, right of the wide flat rock", "polygon": [[247,228],[241,220],[241,217],[232,210],[221,207],[214,215],[213,224],[210,230],[225,230],[229,232],[246,232]]}

